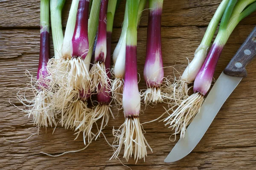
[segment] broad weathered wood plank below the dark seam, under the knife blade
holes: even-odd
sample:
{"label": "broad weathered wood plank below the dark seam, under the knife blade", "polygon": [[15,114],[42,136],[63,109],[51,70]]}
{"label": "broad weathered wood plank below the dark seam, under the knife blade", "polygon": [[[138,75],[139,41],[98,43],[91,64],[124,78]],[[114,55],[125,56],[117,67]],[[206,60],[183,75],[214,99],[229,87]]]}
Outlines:
{"label": "broad weathered wood plank below the dark seam, under the knife blade", "polygon": [[[215,77],[218,77],[221,70],[227,65],[229,59],[235,54],[237,48],[239,48],[252,29],[253,26],[239,26],[235,30],[224,48]],[[205,28],[188,26],[163,28],[162,31],[165,66],[173,66],[176,63],[175,68],[177,68],[178,71],[182,71],[186,67],[186,57],[189,59],[192,58],[195,48],[203,37]],[[118,40],[119,33],[119,28],[114,30],[113,42]],[[1,55],[2,60],[0,62],[0,96],[2,100],[0,111],[0,136],[5,136],[6,139],[9,140],[22,140],[34,133],[36,129],[28,129],[29,127],[33,127],[32,120],[24,117],[24,113],[10,105],[9,99],[14,101],[15,92],[17,91],[16,88],[24,87],[24,83],[28,81],[24,75],[26,69],[32,71],[33,74],[36,73],[39,55],[38,30],[5,30],[0,31],[0,35],[0,37],[3,38],[2,41],[0,41],[0,45],[4,47],[4,51],[0,51],[0,53],[3,54]],[[138,71],[142,75],[143,63],[145,61],[143,58],[145,55],[146,28],[140,28],[139,35]],[[115,43],[113,43],[112,50],[114,46]],[[12,51],[12,53],[8,51]],[[17,57],[17,54],[21,55]],[[53,51],[51,51],[51,54],[53,55]],[[11,57],[6,57],[8,55]],[[207,169],[216,167],[216,169],[218,169],[230,166],[233,168],[240,167],[241,164],[236,163],[237,161],[233,161],[236,159],[241,163],[246,161],[253,162],[253,153],[256,152],[253,150],[253,148],[256,147],[256,143],[253,140],[256,138],[256,129],[253,120],[256,120],[256,116],[253,114],[254,109],[251,108],[248,100],[252,103],[256,103],[253,98],[253,96],[255,96],[253,88],[256,82],[252,81],[256,78],[256,71],[253,69],[255,65],[255,63],[251,63],[248,66],[249,78],[245,78],[233,92],[213,121],[207,134],[189,156],[177,163],[170,165],[165,164],[163,159],[167,156],[175,142],[169,142],[171,132],[163,126],[163,122],[154,122],[150,125],[143,125],[147,132],[145,136],[151,147],[154,148],[154,153],[148,153],[148,158],[145,163],[140,160],[138,167],[134,167],[135,162],[132,159],[125,164],[131,166],[131,168],[139,168],[142,170],[169,169],[172,167],[181,167],[183,169]],[[167,69],[166,75],[168,75],[170,71],[171,69]],[[6,76],[8,76],[8,79]],[[140,82],[140,88],[145,88],[143,79]],[[241,93],[241,91],[243,91],[243,93]],[[162,106],[166,105],[158,105],[157,109],[154,110],[154,114],[152,114],[150,110],[146,110],[145,113],[141,115],[140,120],[147,122],[157,118],[164,111]],[[115,114],[117,113],[115,109],[113,109],[113,112]],[[115,121],[111,120],[109,122],[109,126],[104,130],[109,141],[113,141],[111,134],[112,127],[118,127],[122,124],[123,120],[122,113],[119,113]],[[119,161],[108,161],[112,155],[112,151],[111,147],[106,147],[107,144],[104,142],[104,138],[93,142],[87,150],[79,153],[68,154],[57,158],[41,155],[39,151],[58,154],[66,150],[77,150],[84,147],[81,136],[78,140],[73,141],[74,136],[71,130],[64,130],[62,127],[58,127],[54,135],[51,134],[51,128],[47,129],[47,133],[44,133],[44,130],[45,129],[42,128],[39,136],[32,136],[31,139],[26,142],[9,143],[2,141],[3,149],[1,150],[1,155],[5,159],[1,161],[4,163],[8,162],[3,169],[61,169],[63,166],[72,167],[74,169],[81,167],[87,167],[87,169],[125,169],[125,167],[120,166]],[[251,150],[253,150],[253,153]],[[220,156],[226,160],[221,161],[215,158]],[[87,161],[84,162],[84,160]],[[95,160],[102,161],[99,163],[95,162]],[[82,165],[78,163],[81,161],[83,162]],[[54,162],[59,163],[55,164]],[[55,165],[52,166],[51,164]],[[248,164],[247,168],[250,167],[251,164]]]}

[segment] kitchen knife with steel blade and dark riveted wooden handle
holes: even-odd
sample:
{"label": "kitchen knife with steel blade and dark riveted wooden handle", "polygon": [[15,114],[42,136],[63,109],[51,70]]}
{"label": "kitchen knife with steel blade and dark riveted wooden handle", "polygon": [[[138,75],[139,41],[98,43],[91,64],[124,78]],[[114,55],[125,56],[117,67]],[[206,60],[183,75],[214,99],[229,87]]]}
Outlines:
{"label": "kitchen knife with steel blade and dark riveted wooden handle", "polygon": [[255,56],[256,27],[221,73],[201,106],[200,112],[186,129],[185,138],[177,142],[164,160],[165,162],[180,160],[195,148],[228,96],[230,96],[241,79],[247,76],[245,67]]}

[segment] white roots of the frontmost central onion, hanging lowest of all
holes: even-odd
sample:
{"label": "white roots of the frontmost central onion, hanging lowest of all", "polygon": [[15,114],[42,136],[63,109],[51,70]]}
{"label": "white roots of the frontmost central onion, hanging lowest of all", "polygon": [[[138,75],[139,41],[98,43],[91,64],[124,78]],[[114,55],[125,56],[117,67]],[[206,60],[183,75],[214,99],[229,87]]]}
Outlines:
{"label": "white roots of the frontmost central onion, hanging lowest of all", "polygon": [[126,161],[128,161],[129,157],[132,155],[134,155],[136,163],[138,159],[144,159],[145,161],[145,156],[147,156],[146,147],[148,147],[151,152],[153,151],[144,137],[141,126],[139,117],[128,117],[118,130],[113,129],[113,136],[115,136],[113,144],[117,143],[118,147],[111,159],[118,159],[122,145],[124,144],[123,158],[125,158]]}

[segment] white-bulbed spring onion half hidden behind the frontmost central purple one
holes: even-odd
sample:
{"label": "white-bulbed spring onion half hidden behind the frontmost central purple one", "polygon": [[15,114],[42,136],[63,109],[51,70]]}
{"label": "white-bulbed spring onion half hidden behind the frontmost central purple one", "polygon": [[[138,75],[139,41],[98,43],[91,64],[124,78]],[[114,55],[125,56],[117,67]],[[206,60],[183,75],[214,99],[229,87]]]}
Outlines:
{"label": "white-bulbed spring onion half hidden behind the frontmost central purple one", "polygon": [[[120,35],[119,41],[116,45],[116,48],[113,52],[113,63],[114,67],[112,68],[112,74],[115,78],[112,83],[111,91],[113,95],[113,99],[116,105],[122,106],[122,94],[124,88],[124,77],[125,77],[125,51],[126,51],[126,30],[128,27],[128,1],[126,1],[125,5],[125,17],[124,22],[122,24],[122,33]],[[137,27],[140,23],[140,18],[142,15],[142,11],[145,8],[146,0],[140,0],[138,6],[138,14],[137,14]]]}

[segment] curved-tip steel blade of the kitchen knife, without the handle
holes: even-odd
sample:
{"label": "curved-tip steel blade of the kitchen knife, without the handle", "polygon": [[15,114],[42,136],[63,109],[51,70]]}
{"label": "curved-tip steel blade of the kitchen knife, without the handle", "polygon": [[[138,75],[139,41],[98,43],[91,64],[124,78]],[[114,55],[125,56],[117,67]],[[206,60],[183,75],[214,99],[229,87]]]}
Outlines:
{"label": "curved-tip steel blade of the kitchen knife, without the handle", "polygon": [[204,136],[208,127],[211,125],[218,111],[221,109],[221,106],[239,84],[241,79],[242,77],[231,77],[223,72],[221,73],[205,99],[200,112],[195,116],[185,131],[185,138],[180,139],[177,142],[164,160],[165,162],[180,160],[195,148]]}

